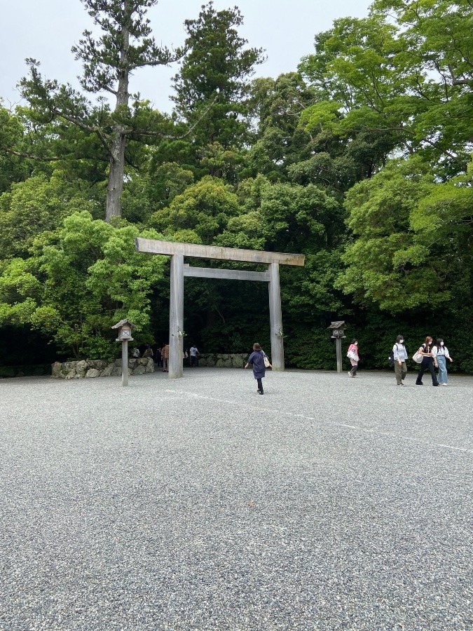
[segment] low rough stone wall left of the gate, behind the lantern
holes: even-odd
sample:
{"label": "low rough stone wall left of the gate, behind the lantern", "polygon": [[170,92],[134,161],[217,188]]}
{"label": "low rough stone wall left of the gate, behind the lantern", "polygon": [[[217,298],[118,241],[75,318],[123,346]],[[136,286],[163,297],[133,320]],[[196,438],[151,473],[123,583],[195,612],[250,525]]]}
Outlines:
{"label": "low rough stone wall left of the gate, behind the lantern", "polygon": [[[154,372],[153,358],[128,360],[128,374]],[[81,360],[80,362],[54,362],[55,379],[83,379],[97,376],[121,376],[121,359],[114,362],[104,360]]]}

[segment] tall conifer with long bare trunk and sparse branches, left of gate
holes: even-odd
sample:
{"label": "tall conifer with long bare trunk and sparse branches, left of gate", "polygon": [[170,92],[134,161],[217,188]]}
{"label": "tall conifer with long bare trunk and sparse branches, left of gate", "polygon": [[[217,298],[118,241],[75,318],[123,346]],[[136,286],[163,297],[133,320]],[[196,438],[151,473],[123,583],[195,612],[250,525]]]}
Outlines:
{"label": "tall conifer with long bare trunk and sparse branches, left of gate", "polygon": [[132,122],[128,86],[132,73],[144,66],[167,65],[179,59],[182,50],[158,46],[150,37],[149,7],[158,0],[81,0],[94,24],[102,29],[99,39],[90,31],[83,32],[72,52],[83,62],[81,86],[90,93],[114,95],[113,114],[105,124],[92,123],[91,107],[85,98],[69,84],[60,86],[39,74],[39,63],[29,59],[29,77],[20,81],[22,96],[44,121],[69,121],[79,128],[95,133],[107,151],[109,175],[107,185],[107,222],[121,216],[121,193],[125,168],[125,144],[130,135],[150,135]]}

